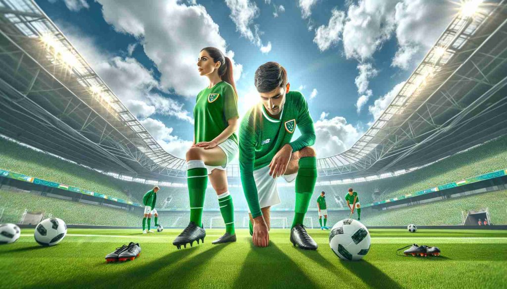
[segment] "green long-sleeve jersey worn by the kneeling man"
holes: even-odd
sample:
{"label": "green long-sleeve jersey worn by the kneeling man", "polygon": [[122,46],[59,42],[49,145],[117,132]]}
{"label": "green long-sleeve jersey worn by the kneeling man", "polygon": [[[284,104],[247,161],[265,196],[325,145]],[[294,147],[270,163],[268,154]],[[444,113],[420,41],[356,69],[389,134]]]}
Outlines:
{"label": "green long-sleeve jersey worn by the kneeling man", "polygon": [[[285,144],[295,152],[315,143],[315,129],[305,98],[297,91],[288,92],[285,98],[280,119],[270,117],[259,103],[246,113],[239,128],[241,183],[253,218],[262,215],[253,171],[268,166]],[[301,136],[291,142],[296,127]]]}

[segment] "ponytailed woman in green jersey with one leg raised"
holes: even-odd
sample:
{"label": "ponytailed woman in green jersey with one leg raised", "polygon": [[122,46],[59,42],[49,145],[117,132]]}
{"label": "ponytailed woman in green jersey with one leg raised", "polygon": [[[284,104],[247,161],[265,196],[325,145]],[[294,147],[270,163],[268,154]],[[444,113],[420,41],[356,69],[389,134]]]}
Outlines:
{"label": "ponytailed woman in green jersey with one leg raised", "polygon": [[234,242],[234,207],[227,185],[227,164],[238,153],[238,96],[232,62],[214,47],[199,53],[197,69],[209,78],[209,86],[197,95],[194,107],[194,144],[187,151],[187,182],[190,197],[190,223],[172,242],[178,249],[194,241],[204,242],[202,226],[204,196],[209,180],[219,199],[226,233],[213,244]]}

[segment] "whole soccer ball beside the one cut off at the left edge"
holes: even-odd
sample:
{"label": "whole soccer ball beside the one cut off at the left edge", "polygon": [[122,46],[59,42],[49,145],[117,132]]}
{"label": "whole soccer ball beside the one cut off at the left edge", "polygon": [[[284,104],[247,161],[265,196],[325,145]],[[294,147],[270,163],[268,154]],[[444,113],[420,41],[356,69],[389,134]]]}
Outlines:
{"label": "whole soccer ball beside the one cut off at the left edge", "polygon": [[67,224],[62,219],[43,220],[35,227],[35,241],[43,246],[53,246],[63,240],[67,234]]}

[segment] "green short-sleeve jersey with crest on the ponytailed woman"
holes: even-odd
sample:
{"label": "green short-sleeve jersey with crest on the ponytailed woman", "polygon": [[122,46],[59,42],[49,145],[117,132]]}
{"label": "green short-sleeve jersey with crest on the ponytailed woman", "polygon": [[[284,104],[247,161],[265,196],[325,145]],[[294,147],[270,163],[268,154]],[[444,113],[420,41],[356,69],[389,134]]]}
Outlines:
{"label": "green short-sleeve jersey with crest on the ponytailed woman", "polygon": [[[194,107],[195,142],[209,142],[220,135],[228,126],[229,119],[239,117],[238,97],[234,88],[220,81],[212,88],[203,89],[198,95]],[[238,143],[238,136],[230,137]]]}

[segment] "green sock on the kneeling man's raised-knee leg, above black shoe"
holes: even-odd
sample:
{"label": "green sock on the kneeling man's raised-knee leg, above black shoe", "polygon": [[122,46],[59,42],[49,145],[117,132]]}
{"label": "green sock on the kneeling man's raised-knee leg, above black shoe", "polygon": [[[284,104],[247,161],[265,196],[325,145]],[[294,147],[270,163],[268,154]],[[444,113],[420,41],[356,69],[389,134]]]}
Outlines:
{"label": "green sock on the kneeling man's raised-knee leg, above black shoe", "polygon": [[298,176],[296,177],[295,214],[291,228],[294,228],[297,224],[303,224],[316,180],[317,158],[310,156],[300,158]]}

